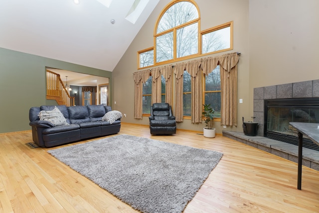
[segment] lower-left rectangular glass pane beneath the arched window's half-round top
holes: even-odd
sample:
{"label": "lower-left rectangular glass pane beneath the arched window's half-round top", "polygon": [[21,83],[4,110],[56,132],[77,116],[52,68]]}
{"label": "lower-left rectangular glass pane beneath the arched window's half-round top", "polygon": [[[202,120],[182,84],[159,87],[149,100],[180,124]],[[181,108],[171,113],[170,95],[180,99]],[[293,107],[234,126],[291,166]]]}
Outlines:
{"label": "lower-left rectangular glass pane beneath the arched window's half-round top", "polygon": [[173,59],[173,32],[156,37],[156,62]]}

